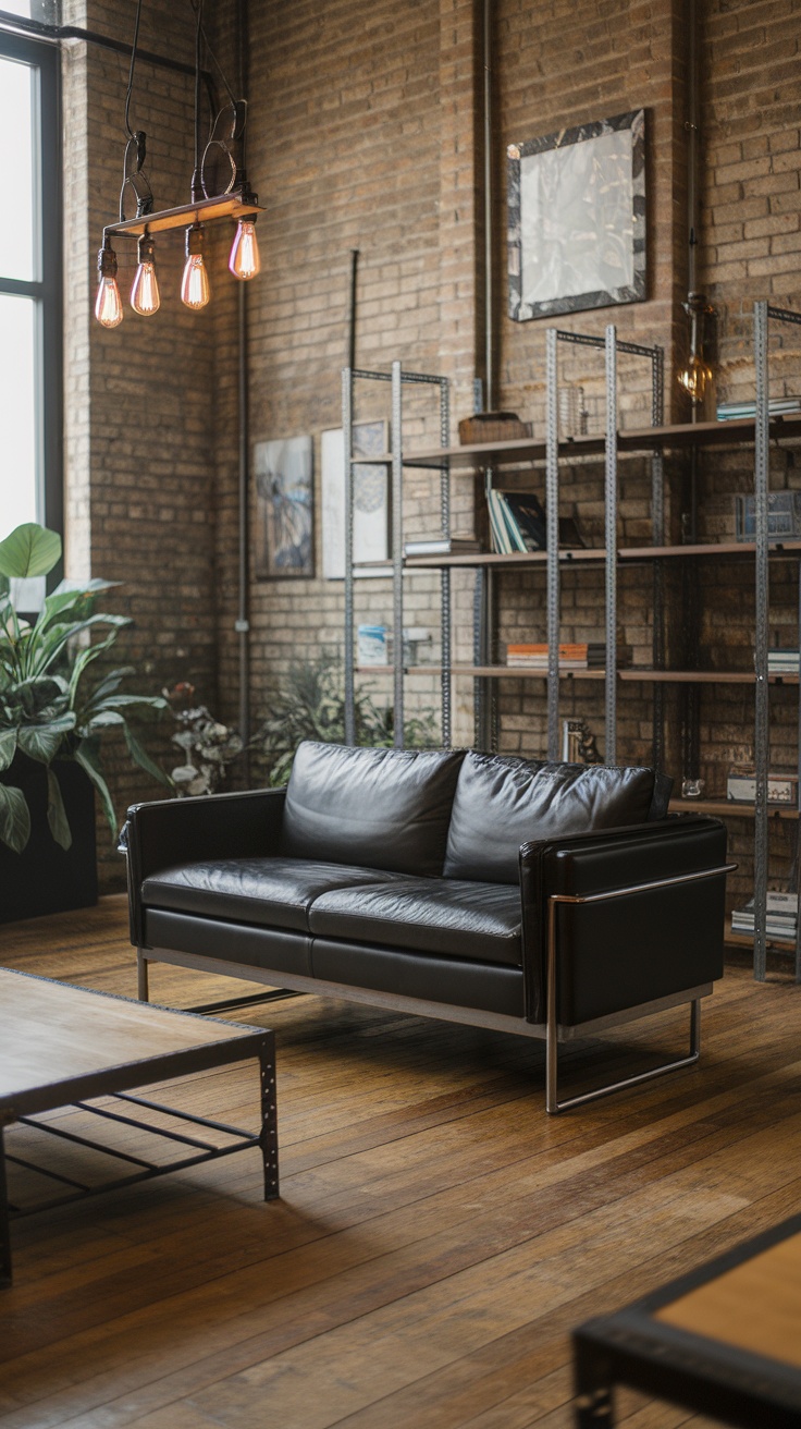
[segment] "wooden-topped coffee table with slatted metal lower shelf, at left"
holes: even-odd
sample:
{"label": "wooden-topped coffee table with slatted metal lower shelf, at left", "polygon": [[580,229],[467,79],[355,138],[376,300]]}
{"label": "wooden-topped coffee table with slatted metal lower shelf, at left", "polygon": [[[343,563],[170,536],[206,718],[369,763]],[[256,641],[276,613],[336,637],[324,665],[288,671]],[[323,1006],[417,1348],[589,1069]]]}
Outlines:
{"label": "wooden-topped coffee table with slatted metal lower shelf, at left", "polygon": [[[257,1133],[178,1112],[141,1096],[134,1087],[183,1077],[208,1067],[256,1059],[260,1069],[261,1119]],[[91,1099],[101,1097],[101,1105]],[[56,1107],[77,1107],[99,1122],[138,1127],[181,1149],[180,1159],[153,1163],[130,1150],[116,1150],[67,1130],[59,1120],[41,1120]],[[150,1120],[143,1119],[151,1113]],[[16,1156],[6,1136],[14,1123],[37,1127],[77,1146],[91,1147],[126,1163],[127,1172],[101,1185],[86,1185],[47,1166]],[[203,1137],[214,1132],[216,1140]],[[150,1180],[167,1172],[230,1156],[258,1146],[264,1167],[264,1199],[278,1195],[278,1136],[276,1122],[274,1035],[236,1022],[170,1012],[67,983],[0,969],[0,1285],[11,1282],[10,1220],[99,1192]],[[17,1162],[60,1183],[61,1195],[30,1209],[7,1196],[6,1162]]]}

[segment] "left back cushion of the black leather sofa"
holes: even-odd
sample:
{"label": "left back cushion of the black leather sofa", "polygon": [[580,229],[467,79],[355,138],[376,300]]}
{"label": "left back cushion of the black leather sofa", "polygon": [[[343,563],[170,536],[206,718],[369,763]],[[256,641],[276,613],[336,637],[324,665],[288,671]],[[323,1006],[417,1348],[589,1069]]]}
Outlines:
{"label": "left back cushion of the black leather sofa", "polygon": [[438,877],[464,753],[304,742],[284,805],[281,853]]}

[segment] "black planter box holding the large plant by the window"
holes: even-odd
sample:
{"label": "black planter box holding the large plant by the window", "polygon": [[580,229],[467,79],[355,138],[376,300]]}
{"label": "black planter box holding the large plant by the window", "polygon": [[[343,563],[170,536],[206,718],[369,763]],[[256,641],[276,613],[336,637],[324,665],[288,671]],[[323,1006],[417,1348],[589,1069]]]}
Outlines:
{"label": "black planter box holding the large plant by the window", "polygon": [[61,786],[73,842],[61,849],[47,825],[47,770],[26,755],[16,755],[0,775],[27,797],[31,835],[23,853],[0,843],[0,923],[41,917],[70,907],[97,903],[94,843],[94,789],[80,765],[59,759],[53,765]]}

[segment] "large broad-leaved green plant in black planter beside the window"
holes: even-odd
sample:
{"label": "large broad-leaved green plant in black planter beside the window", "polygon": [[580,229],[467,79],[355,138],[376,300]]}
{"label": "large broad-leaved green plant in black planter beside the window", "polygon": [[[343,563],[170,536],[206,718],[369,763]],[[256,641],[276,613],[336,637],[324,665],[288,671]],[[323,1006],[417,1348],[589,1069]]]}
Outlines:
{"label": "large broad-leaved green plant in black planter beside the window", "polygon": [[0,922],[97,900],[93,790],[117,830],[100,762],[109,730],[120,730],[131,759],[170,786],[129,723],[166,700],[126,694],[131,666],[89,679],[130,624],[94,609],[116,582],[63,580],[36,619],[17,609],[11,582],[49,574],[60,556],[60,537],[33,522],[0,542]]}

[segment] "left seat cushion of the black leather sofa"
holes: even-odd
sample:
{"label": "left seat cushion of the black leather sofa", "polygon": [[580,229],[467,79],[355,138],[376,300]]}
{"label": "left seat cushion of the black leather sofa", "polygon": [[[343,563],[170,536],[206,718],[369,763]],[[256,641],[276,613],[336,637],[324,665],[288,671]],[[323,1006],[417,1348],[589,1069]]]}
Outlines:
{"label": "left seat cushion of the black leather sofa", "polygon": [[153,873],[141,886],[150,907],[308,932],[308,909],[328,889],[387,886],[387,873],[308,859],[206,859]]}

